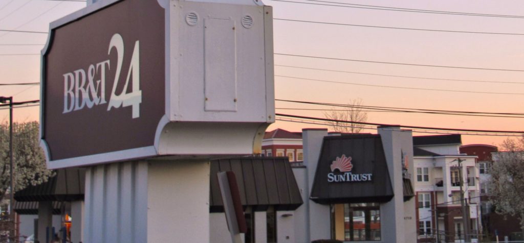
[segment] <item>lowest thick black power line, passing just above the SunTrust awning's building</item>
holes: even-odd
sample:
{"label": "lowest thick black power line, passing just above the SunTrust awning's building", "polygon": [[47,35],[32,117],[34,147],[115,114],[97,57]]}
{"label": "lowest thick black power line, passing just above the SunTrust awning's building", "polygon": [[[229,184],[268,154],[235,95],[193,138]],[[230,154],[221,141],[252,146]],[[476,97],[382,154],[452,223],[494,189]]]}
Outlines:
{"label": "lowest thick black power line, passing just above the SunTrust awning's building", "polygon": [[425,129],[425,130],[524,134],[524,131],[500,131],[500,130],[457,129],[457,128],[432,128],[432,127],[429,127],[429,126],[411,126],[411,125],[394,125],[394,124],[372,123],[372,122],[356,122],[356,121],[345,121],[345,120],[336,120],[336,119],[327,119],[327,118],[304,117],[304,116],[301,116],[301,115],[290,115],[290,114],[279,114],[279,113],[276,113],[275,115],[278,115],[280,117],[301,118],[301,119],[310,119],[310,120],[318,120],[318,121],[342,122],[342,123],[353,123],[353,124],[375,125],[375,126],[400,126],[402,128]]}

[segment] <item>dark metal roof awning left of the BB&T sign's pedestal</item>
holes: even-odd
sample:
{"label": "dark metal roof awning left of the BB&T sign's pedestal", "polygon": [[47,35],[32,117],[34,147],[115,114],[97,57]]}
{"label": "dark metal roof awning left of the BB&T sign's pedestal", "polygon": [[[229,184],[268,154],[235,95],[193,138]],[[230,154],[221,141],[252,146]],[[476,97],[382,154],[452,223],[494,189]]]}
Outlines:
{"label": "dark metal roof awning left of the BB&T sign's pedestal", "polygon": [[70,168],[55,170],[47,182],[15,193],[18,202],[32,201],[75,201],[84,199],[85,169]]}

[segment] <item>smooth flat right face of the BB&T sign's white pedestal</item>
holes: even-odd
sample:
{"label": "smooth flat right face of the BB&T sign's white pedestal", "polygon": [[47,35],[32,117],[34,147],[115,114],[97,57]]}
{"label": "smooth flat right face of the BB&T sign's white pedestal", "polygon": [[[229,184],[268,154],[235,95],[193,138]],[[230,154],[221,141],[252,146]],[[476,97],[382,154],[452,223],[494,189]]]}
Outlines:
{"label": "smooth flat right face of the BB&T sign's white pedestal", "polygon": [[152,161],[147,242],[209,241],[210,161]]}

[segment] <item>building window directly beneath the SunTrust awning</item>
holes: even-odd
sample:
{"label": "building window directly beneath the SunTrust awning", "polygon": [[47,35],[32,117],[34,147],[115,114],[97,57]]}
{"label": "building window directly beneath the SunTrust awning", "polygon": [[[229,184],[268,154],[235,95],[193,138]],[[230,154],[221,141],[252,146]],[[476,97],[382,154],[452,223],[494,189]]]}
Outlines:
{"label": "building window directly beneath the SunTrust awning", "polygon": [[[332,232],[342,241],[380,240],[380,206],[378,203],[331,205]],[[342,229],[344,229],[342,231]]]}

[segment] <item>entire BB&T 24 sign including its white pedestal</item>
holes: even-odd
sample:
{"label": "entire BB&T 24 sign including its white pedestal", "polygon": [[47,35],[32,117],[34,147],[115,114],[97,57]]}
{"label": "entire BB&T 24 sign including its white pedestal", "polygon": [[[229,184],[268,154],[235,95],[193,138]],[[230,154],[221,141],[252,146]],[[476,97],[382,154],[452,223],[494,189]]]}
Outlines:
{"label": "entire BB&T 24 sign including its white pedestal", "polygon": [[271,7],[88,3],[51,23],[40,129],[48,168],[88,167],[84,242],[208,242],[209,160],[275,121]]}

